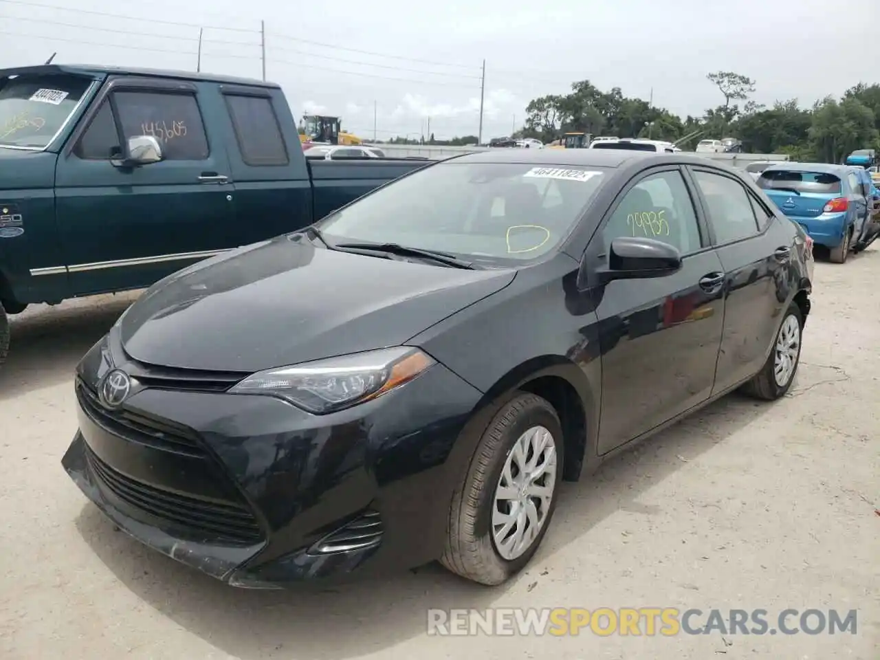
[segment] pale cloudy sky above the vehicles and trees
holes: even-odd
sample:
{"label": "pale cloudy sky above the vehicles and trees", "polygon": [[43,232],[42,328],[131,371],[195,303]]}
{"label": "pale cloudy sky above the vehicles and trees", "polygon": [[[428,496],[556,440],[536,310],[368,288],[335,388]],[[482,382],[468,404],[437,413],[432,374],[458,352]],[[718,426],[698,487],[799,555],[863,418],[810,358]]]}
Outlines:
{"label": "pale cloudy sky above the vehicles and trees", "polygon": [[488,140],[584,79],[685,116],[723,102],[706,75],[730,70],[759,103],[810,106],[880,82],[878,19],[880,0],[0,0],[0,68],[57,52],[195,70],[201,26],[202,71],[260,78],[264,22],[266,78],[297,120],[341,116],[366,139],[476,135],[485,60]]}

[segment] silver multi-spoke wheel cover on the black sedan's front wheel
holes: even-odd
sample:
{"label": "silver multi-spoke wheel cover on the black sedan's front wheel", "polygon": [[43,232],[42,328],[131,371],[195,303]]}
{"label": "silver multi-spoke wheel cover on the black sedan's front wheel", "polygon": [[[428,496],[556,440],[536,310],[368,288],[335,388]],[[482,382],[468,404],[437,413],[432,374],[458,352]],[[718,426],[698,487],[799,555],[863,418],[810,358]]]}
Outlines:
{"label": "silver multi-spoke wheel cover on the black sedan's front wheel", "polygon": [[553,502],[556,469],[556,442],[549,430],[533,426],[517,438],[492,502],[492,537],[503,559],[517,559],[538,538]]}

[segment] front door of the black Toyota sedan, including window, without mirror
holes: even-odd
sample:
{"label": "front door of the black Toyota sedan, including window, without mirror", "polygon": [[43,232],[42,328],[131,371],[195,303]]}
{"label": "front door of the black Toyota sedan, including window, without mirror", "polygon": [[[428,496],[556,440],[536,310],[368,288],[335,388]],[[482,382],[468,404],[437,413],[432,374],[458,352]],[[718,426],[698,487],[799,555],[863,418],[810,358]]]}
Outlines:
{"label": "front door of the black Toyota sedan, including window, without mirror", "polygon": [[602,328],[600,453],[708,399],[724,317],[722,264],[678,167],[650,170],[615,203],[590,241],[588,259],[606,260],[620,236],[671,243],[684,259],[673,275],[618,280],[594,291]]}

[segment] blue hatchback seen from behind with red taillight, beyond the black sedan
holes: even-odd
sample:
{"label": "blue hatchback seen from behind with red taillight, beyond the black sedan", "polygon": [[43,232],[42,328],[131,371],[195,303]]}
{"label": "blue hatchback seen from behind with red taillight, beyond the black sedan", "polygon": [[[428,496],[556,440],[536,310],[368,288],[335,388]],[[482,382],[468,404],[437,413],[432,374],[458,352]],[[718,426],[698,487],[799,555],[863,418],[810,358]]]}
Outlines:
{"label": "blue hatchback seen from behind with red taillight, beyond the black sedan", "polygon": [[817,245],[829,248],[835,263],[876,238],[871,187],[851,166],[780,163],[761,172],[756,183]]}

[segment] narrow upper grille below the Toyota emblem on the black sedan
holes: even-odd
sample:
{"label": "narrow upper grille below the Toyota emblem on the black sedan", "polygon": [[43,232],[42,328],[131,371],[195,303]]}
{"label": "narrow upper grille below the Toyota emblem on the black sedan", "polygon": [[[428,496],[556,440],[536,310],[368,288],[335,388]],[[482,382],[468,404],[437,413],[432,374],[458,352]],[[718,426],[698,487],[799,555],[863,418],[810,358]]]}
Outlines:
{"label": "narrow upper grille below the Toyota emblem on the black sedan", "polygon": [[130,410],[108,410],[101,405],[97,392],[80,379],[77,379],[77,400],[92,422],[114,436],[187,456],[206,456],[198,435],[192,429]]}

